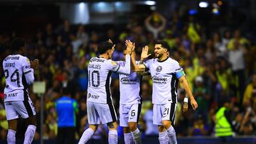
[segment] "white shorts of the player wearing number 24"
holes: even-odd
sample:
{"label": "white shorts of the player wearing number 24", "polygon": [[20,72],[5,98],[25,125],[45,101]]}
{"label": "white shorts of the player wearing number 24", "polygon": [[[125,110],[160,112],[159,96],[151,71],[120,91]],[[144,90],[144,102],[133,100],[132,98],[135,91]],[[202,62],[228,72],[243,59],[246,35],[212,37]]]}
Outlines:
{"label": "white shorts of the player wearing number 24", "polygon": [[30,99],[26,101],[6,101],[4,102],[4,106],[7,121],[16,119],[18,116],[28,118],[36,115],[36,109]]}

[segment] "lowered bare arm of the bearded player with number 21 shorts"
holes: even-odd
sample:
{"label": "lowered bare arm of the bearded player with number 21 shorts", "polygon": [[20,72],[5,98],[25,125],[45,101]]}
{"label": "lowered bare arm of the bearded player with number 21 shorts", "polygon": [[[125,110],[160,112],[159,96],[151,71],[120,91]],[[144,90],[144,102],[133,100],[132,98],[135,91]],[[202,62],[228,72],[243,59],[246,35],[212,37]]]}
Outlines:
{"label": "lowered bare arm of the bearded player with number 21 shorts", "polygon": [[[186,91],[186,94],[188,94],[188,97],[191,100],[191,106],[192,106],[193,110],[196,110],[196,108],[198,107],[198,104],[197,104],[196,99],[194,98],[194,96],[191,92],[191,89],[188,86],[188,80],[186,79],[185,76],[182,76],[178,79],[178,81],[181,82],[183,88]],[[186,102],[184,102],[184,104],[185,104],[185,106],[183,106],[183,111],[187,111],[188,106],[186,106],[187,105]],[[185,107],[185,109],[184,109],[184,107]]]}

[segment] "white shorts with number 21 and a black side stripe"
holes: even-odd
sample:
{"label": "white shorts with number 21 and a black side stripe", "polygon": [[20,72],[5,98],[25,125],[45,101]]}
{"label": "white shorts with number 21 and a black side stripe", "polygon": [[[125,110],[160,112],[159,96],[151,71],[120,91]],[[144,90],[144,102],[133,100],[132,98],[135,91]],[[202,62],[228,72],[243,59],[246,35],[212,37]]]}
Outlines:
{"label": "white shorts with number 21 and a black side stripe", "polygon": [[171,121],[171,124],[175,124],[175,113],[177,104],[154,104],[153,107],[153,124],[162,125],[163,120]]}

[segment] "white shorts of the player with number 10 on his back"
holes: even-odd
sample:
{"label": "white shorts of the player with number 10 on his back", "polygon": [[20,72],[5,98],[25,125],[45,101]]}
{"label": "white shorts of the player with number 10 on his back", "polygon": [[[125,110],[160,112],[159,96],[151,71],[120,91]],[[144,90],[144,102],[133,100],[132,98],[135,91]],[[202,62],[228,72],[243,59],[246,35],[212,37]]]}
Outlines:
{"label": "white shorts of the player with number 10 on his back", "polygon": [[99,104],[91,101],[87,101],[87,116],[88,123],[106,124],[117,121],[117,113],[114,111],[113,104]]}

